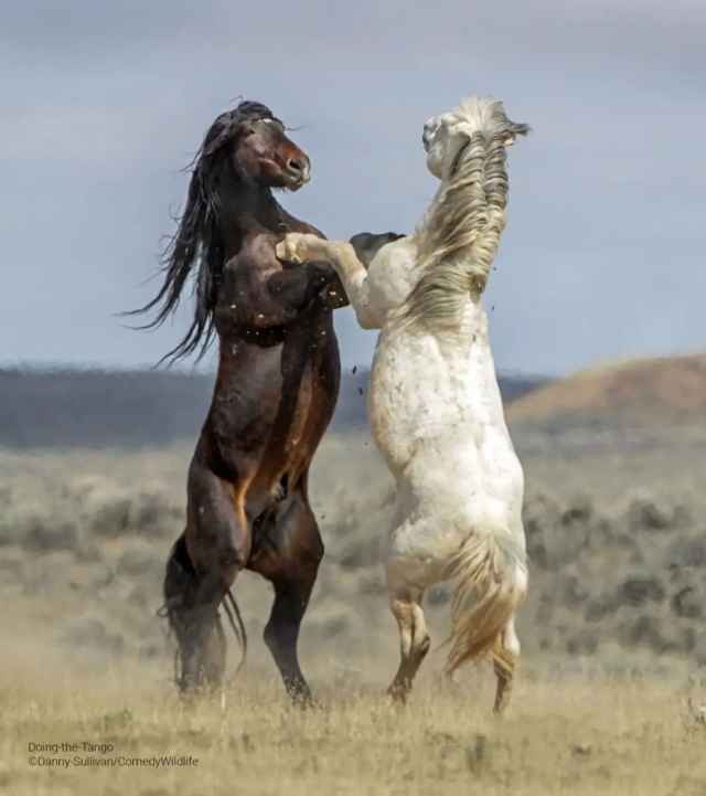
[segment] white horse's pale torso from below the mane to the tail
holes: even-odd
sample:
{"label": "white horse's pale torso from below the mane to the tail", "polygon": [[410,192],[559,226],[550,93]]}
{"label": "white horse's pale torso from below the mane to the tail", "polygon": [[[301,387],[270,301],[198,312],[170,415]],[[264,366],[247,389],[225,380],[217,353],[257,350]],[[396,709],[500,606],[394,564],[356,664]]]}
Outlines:
{"label": "white horse's pale torso from below the mane to the tail", "polygon": [[472,532],[522,537],[522,466],[478,337],[451,349],[434,336],[381,335],[368,407],[398,482],[393,556],[441,563]]}

